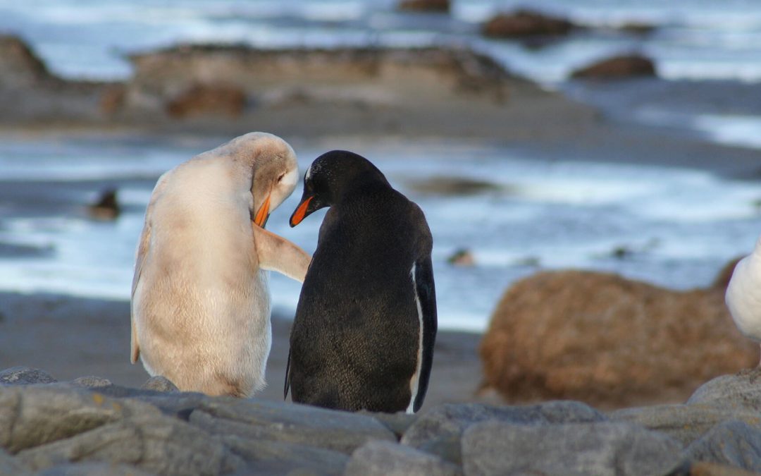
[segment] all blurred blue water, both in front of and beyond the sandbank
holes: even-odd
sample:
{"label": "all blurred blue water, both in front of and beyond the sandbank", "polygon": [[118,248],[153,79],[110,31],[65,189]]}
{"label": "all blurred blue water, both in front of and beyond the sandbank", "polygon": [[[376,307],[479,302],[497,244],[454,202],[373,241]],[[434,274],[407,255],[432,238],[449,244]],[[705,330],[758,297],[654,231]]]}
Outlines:
{"label": "all blurred blue water, both in front of and beyond the sandbank", "polygon": [[[752,0],[537,0],[596,28],[541,45],[480,37],[497,11],[526,5],[453,0],[450,15],[402,14],[393,0],[0,0],[0,33],[17,34],[56,74],[121,79],[126,56],[175,43],[280,46],[466,45],[507,69],[600,107],[615,120],[664,126],[708,141],[761,148],[761,3]],[[651,34],[623,34],[629,22]],[[642,52],[659,78],[603,87],[568,81],[573,69]],[[23,138],[0,141],[0,290],[128,299],[135,243],[158,176],[229,138]],[[422,206],[435,237],[440,325],[482,331],[501,292],[540,269],[622,273],[675,289],[706,286],[759,234],[761,190],[702,171],[562,161],[509,147],[451,143],[361,144],[392,184]],[[321,152],[298,145],[302,170]],[[759,152],[761,153],[761,152]],[[718,158],[720,159],[720,158]],[[482,193],[422,193],[431,177],[495,185]],[[88,218],[103,188],[125,206],[115,222]],[[322,214],[268,228],[314,251]],[[473,252],[473,267],[447,257]],[[619,251],[619,253],[616,253]],[[618,257],[617,257],[618,255]],[[275,307],[291,312],[298,283],[272,274]]]}

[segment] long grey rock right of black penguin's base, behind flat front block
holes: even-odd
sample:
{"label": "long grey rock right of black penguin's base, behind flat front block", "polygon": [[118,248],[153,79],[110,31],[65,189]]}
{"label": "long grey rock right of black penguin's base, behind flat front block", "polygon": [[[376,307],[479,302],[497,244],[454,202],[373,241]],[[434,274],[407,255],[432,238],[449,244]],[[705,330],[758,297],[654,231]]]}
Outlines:
{"label": "long grey rock right of black penguin's base, behind flat front block", "polygon": [[538,405],[508,407],[443,404],[418,417],[404,433],[401,442],[460,464],[460,436],[467,427],[486,420],[540,425],[603,421],[606,417],[578,401],[549,401]]}

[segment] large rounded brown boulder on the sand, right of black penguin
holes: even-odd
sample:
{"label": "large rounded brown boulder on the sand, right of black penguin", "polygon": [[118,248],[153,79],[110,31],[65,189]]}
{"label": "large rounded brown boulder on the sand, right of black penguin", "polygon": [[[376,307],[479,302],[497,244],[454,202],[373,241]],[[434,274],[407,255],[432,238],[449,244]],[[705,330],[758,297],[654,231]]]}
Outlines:
{"label": "large rounded brown boulder on the sand, right of black penguin", "polygon": [[511,403],[685,401],[702,382],[758,362],[724,305],[725,274],[686,292],[607,273],[529,276],[502,296],[481,341],[485,386]]}

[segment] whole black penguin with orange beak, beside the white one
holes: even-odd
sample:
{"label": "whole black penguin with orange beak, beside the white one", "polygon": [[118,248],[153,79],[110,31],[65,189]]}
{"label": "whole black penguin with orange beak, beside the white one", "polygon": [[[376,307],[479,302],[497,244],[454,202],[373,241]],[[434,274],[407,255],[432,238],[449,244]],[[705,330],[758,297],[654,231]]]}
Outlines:
{"label": "whole black penguin with orange beak, beside the white one", "polygon": [[422,210],[352,152],[304,174],[298,225],[330,206],[291,328],[285,397],[346,411],[418,411],[436,339],[433,238]]}

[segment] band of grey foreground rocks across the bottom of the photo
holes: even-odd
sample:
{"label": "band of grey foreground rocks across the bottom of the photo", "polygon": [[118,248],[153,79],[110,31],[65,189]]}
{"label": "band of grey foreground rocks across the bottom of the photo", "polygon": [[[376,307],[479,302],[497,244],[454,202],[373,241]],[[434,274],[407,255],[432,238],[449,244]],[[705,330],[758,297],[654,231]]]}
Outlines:
{"label": "band of grey foreground rocks across the bottom of the photo", "polygon": [[351,414],[256,398],[56,382],[0,372],[2,474],[751,474],[761,471],[759,372],[686,404],[603,413],[578,401],[441,404]]}

